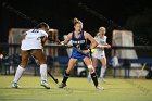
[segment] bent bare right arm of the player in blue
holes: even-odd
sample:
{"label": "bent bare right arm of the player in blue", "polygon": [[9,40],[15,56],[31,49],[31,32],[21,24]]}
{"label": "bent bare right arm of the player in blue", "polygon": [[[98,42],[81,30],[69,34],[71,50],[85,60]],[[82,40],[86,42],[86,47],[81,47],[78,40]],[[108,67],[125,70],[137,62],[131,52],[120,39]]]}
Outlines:
{"label": "bent bare right arm of the player in blue", "polygon": [[94,38],[89,33],[85,31],[85,38],[87,38],[91,41],[90,49],[94,49],[98,46],[98,42],[94,40]]}

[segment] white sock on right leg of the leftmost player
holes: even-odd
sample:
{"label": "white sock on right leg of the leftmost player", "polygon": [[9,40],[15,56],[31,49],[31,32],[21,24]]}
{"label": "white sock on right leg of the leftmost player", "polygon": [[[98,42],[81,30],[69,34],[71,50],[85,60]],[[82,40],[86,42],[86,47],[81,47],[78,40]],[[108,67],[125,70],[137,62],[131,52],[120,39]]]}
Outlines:
{"label": "white sock on right leg of the leftmost player", "polygon": [[41,80],[47,81],[47,64],[40,65],[40,75],[41,75]]}

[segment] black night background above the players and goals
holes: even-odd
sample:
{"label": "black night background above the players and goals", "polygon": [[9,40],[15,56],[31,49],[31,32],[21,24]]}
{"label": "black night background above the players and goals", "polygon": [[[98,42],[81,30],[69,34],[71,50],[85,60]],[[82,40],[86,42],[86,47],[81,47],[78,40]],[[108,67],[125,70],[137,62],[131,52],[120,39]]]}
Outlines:
{"label": "black night background above the players and goals", "polygon": [[[9,10],[8,4],[24,13],[26,17]],[[151,46],[151,0],[3,0],[0,42],[8,42],[10,28],[34,27],[34,20],[46,22],[51,28],[59,29],[62,37],[73,30],[72,20],[77,17],[83,21],[84,29],[92,36],[100,26],[105,26],[107,42],[111,42],[113,29],[128,29],[134,31],[135,45]]]}

